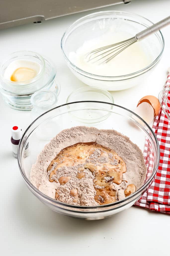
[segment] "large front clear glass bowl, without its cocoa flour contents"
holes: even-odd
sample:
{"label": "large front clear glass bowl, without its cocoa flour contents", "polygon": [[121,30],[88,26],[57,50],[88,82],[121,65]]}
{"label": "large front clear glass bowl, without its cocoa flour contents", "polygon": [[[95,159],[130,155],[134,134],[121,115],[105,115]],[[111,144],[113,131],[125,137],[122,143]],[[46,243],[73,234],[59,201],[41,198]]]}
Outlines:
{"label": "large front clear glass bowl, without its cocoa flour contents", "polygon": [[[87,111],[89,112],[89,124],[82,124],[82,121],[73,118],[73,116],[77,114],[81,114],[82,116],[86,115]],[[94,113],[103,115],[104,112],[106,114],[109,112],[107,119],[103,121],[97,120],[96,123],[93,122],[93,125],[91,125]],[[136,117],[138,117],[138,119]],[[145,162],[149,175],[147,175],[144,184],[135,193],[122,200],[107,205],[93,207],[77,206],[52,199],[43,194],[30,182],[32,165],[35,164],[37,156],[43,150],[44,146],[62,130],[82,125],[87,127],[94,126],[98,129],[116,130],[128,136],[133,143],[137,144],[142,152],[144,152],[147,139],[147,143],[149,144],[148,154],[152,154],[153,156],[153,165],[152,167],[149,167],[147,161]],[[50,134],[48,139],[46,137],[47,132]],[[27,157],[24,157],[25,147],[28,146],[28,142],[30,154]],[[146,150],[144,154],[146,154]],[[45,205],[57,213],[87,220],[110,217],[115,213],[132,206],[152,183],[158,169],[159,160],[160,150],[158,140],[150,126],[144,120],[122,106],[97,101],[67,103],[47,111],[34,120],[34,122],[27,128],[21,138],[18,148],[18,165],[30,191]],[[41,214],[41,212],[39,214]]]}

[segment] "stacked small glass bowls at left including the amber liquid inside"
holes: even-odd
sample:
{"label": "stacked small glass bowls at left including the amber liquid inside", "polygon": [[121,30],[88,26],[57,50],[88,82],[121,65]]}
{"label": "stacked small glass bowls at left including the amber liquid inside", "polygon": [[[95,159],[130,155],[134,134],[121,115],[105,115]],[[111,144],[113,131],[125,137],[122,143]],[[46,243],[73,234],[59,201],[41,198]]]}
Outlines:
{"label": "stacked small glass bowls at left including the amber liquid inside", "polygon": [[11,108],[30,111],[31,96],[39,90],[50,90],[58,96],[60,85],[53,63],[32,51],[10,54],[0,68],[0,92],[4,101]]}

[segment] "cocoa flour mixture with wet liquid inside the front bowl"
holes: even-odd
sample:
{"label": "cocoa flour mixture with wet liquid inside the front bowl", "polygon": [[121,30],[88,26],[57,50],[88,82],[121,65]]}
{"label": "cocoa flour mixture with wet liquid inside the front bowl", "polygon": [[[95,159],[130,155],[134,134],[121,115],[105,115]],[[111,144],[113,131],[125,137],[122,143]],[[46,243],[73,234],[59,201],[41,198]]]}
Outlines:
{"label": "cocoa flour mixture with wet liquid inside the front bowl", "polygon": [[31,169],[45,195],[72,205],[97,206],[139,189],[146,166],[139,147],[114,130],[77,126],[48,143]]}

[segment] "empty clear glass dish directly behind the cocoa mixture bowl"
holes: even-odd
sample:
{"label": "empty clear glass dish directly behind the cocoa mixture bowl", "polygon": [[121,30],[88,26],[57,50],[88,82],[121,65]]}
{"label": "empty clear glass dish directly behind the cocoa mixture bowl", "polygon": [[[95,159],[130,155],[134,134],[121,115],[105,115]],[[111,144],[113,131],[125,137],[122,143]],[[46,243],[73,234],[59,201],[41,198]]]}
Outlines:
{"label": "empty clear glass dish directly behind the cocoa mixture bowl", "polygon": [[[81,87],[77,90],[74,90],[69,97],[67,98],[66,103],[71,103],[75,101],[102,101],[108,103],[114,103],[113,97],[110,92],[102,90],[96,87]],[[69,105],[69,110],[71,110],[72,105]],[[112,105],[108,105],[108,109],[112,109]],[[109,112],[101,112],[98,110],[89,111],[87,110],[82,115],[82,112],[70,112],[70,114],[78,119],[82,123],[97,125],[99,122],[104,121],[108,116]]]}

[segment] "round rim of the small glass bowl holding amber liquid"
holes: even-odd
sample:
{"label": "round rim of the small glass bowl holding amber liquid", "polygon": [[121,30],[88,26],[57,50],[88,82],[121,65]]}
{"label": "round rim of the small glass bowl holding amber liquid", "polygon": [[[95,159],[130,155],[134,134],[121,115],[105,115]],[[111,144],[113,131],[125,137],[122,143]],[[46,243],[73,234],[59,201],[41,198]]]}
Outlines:
{"label": "round rim of the small glass bowl holding amber liquid", "polygon": [[[40,73],[34,77],[34,79],[30,79],[30,80],[25,80],[25,81],[22,81],[22,82],[15,82],[15,81],[10,81],[8,79],[5,79],[2,75],[2,67],[4,66],[4,64],[9,60],[9,57],[12,55],[12,54],[17,54],[17,53],[24,53],[24,52],[28,52],[28,53],[32,53],[32,54],[35,54],[38,56],[38,58],[40,58],[40,60],[42,61],[43,63],[43,68],[41,69]],[[3,63],[1,64],[1,67],[0,67],[0,78],[2,79],[3,82],[5,83],[11,83],[13,84],[14,86],[17,85],[17,87],[26,87],[28,86],[29,84],[32,84],[32,83],[35,83],[41,76],[42,76],[42,73],[44,72],[45,70],[45,60],[44,58],[37,52],[34,52],[34,51],[27,51],[27,50],[22,50],[22,51],[15,51],[15,52],[12,52],[11,54],[9,54],[3,61]],[[27,83],[28,82],[28,83]],[[23,83],[26,83],[26,84],[23,84]]]}

